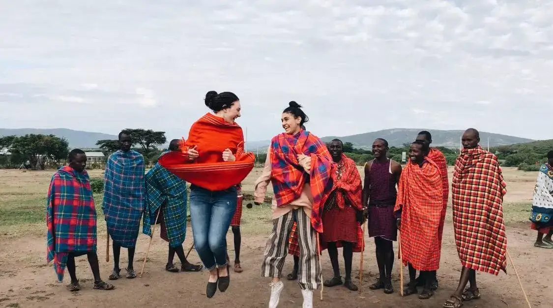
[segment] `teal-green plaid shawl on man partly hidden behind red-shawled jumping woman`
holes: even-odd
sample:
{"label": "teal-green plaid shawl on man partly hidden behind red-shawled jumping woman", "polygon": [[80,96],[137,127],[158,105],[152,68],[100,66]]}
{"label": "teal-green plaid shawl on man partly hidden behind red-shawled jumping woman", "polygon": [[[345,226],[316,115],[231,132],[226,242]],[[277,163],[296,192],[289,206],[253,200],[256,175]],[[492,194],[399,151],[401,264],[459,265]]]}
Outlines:
{"label": "teal-green plaid shawl on man partly hidden behind red-shawled jumping woman", "polygon": [[[186,182],[156,163],[146,173],[146,196],[142,233],[152,236],[151,225],[155,223],[161,208],[165,239],[168,239],[170,247],[182,245],[186,238]],[[158,223],[161,222],[161,219],[158,220]]]}

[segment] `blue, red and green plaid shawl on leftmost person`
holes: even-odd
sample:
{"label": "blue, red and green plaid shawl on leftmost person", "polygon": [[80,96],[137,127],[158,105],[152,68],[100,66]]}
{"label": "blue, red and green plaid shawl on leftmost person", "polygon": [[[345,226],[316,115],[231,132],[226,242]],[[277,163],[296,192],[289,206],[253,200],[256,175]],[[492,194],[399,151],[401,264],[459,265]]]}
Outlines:
{"label": "blue, red and green plaid shawl on leftmost person", "polygon": [[88,173],[62,167],[51,178],[46,197],[46,261],[54,261],[59,281],[69,253],[96,251],[96,208]]}

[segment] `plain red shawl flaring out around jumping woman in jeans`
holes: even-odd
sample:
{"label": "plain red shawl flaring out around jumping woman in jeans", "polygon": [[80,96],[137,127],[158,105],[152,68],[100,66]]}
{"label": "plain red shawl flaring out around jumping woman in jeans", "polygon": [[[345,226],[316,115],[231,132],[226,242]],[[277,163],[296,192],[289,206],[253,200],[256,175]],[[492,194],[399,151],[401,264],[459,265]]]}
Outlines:
{"label": "plain red shawl flaring out around jumping woman in jeans", "polygon": [[[190,161],[187,151],[194,146],[200,156]],[[180,148],[181,152],[161,156],[159,165],[184,181],[210,191],[222,191],[239,184],[252,171],[255,162],[253,153],[244,152],[242,128],[212,114],[192,124],[188,140],[183,140]],[[236,156],[236,161],[223,161],[226,148]]]}

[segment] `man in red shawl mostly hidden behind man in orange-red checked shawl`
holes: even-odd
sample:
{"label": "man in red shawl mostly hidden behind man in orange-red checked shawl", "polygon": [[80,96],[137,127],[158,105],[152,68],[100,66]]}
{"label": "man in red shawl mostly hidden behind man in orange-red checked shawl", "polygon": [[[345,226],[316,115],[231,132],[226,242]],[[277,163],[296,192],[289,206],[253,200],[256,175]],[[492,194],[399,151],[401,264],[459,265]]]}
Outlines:
{"label": "man in red shawl mostly hidden behind man in orange-red checked shawl", "polygon": [[[415,138],[416,141],[422,141],[425,143],[427,147],[430,147],[432,143],[432,135],[429,131],[421,131],[419,132],[419,135]],[[427,157],[436,163],[438,165],[438,168],[440,169],[440,175],[442,177],[442,192],[444,193],[443,204],[442,204],[442,213],[441,213],[441,219],[440,219],[440,250],[441,250],[441,244],[442,244],[442,235],[444,234],[444,222],[446,219],[446,211],[447,211],[447,199],[449,198],[449,180],[447,178],[447,161],[446,157],[440,150],[434,147],[430,147],[430,152],[428,153]],[[432,290],[438,289],[438,279],[436,276],[436,271],[434,271],[434,282],[432,283]],[[424,286],[425,281],[424,277],[419,275],[419,278],[416,279],[417,286]]]}

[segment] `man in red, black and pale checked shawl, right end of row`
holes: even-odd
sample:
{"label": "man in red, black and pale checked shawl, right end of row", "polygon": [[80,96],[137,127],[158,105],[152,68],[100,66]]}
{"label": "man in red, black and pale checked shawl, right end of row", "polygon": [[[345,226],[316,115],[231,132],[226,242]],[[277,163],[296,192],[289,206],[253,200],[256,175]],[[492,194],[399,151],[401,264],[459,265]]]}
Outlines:
{"label": "man in red, black and pale checked shawl, right end of row", "polygon": [[[503,220],[503,196],[507,184],[497,157],[483,150],[477,130],[462,137],[463,150],[455,161],[451,182],[453,229],[463,268],[455,293],[444,307],[460,307],[463,301],[480,298],[476,271],[507,273],[507,237]],[[463,289],[470,281],[471,286]]]}

